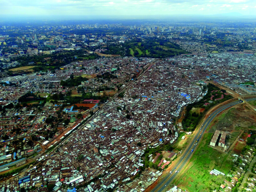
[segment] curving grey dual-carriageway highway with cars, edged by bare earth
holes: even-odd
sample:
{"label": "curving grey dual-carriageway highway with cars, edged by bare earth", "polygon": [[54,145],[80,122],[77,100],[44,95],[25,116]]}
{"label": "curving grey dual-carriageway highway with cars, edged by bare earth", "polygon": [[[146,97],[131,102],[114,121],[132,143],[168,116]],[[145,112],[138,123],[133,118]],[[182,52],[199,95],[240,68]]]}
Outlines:
{"label": "curving grey dual-carriageway highway with cars, edged by bare earth", "polygon": [[[246,99],[246,101],[252,101],[252,100],[256,100],[256,98],[251,98],[251,99]],[[218,115],[218,113],[222,112],[223,110],[226,110],[227,108],[236,105],[238,103],[241,103],[240,100],[238,101],[234,101],[232,103],[226,104],[221,106],[218,110],[212,112],[209,117],[205,120],[205,122],[202,124],[200,131],[198,131],[194,137],[193,142],[190,143],[190,145],[187,147],[187,149],[182,152],[183,155],[182,157],[179,159],[179,161],[177,162],[177,164],[174,166],[174,168],[171,170],[172,174],[169,172],[160,183],[158,183],[151,191],[152,192],[162,192],[162,191],[167,191],[169,189],[168,185],[171,184],[174,179],[176,178],[176,176],[178,174],[178,172],[181,172],[183,170],[183,168],[185,168],[185,165],[189,162],[189,159],[192,157],[193,153],[195,152],[195,149],[197,147],[196,144],[196,140],[198,139],[198,143],[200,142],[202,133],[204,133],[207,129],[207,127],[210,125],[211,121]],[[193,152],[191,152],[191,150],[193,150]],[[175,173],[175,171],[177,170],[177,173]]]}

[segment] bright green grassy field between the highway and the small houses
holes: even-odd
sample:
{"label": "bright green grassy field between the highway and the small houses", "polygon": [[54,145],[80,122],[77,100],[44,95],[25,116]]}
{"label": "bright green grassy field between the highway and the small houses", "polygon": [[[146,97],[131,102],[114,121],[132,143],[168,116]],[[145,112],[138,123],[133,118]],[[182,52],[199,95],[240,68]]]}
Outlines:
{"label": "bright green grassy field between the highway and the small houses", "polygon": [[212,191],[215,188],[219,188],[226,176],[210,175],[210,171],[217,169],[228,174],[232,168],[234,163],[229,154],[208,147],[211,136],[212,133],[204,134],[182,178],[178,178],[175,181],[176,185],[181,185],[181,189],[200,192]]}

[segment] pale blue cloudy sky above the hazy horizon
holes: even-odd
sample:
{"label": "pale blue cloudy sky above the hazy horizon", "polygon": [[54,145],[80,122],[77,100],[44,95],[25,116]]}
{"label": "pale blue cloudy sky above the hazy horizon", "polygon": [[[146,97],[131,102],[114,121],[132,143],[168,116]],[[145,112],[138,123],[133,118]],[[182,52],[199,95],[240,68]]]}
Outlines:
{"label": "pale blue cloudy sky above the hazy horizon", "polygon": [[[2,16],[256,15],[256,0],[1,0]],[[118,18],[118,17],[117,17]]]}

